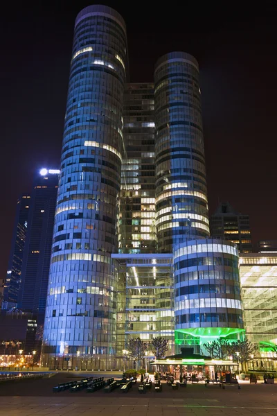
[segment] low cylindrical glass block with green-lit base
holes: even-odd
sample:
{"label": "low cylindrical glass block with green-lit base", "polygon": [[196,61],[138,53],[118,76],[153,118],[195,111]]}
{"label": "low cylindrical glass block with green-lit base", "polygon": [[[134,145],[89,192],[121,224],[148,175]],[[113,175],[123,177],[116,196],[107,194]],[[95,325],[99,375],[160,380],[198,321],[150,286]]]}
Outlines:
{"label": "low cylindrical glass block with green-lit base", "polygon": [[173,259],[177,345],[243,332],[235,244],[188,241],[175,248]]}

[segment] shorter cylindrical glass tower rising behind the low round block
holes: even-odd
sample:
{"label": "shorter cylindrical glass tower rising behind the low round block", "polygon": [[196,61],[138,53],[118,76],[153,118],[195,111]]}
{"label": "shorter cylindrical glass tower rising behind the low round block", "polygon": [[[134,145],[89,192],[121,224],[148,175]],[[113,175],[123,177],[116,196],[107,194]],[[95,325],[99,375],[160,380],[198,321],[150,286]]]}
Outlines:
{"label": "shorter cylindrical glass tower rising behind the low round block", "polygon": [[156,226],[159,252],[209,235],[197,60],[161,57],[154,71]]}

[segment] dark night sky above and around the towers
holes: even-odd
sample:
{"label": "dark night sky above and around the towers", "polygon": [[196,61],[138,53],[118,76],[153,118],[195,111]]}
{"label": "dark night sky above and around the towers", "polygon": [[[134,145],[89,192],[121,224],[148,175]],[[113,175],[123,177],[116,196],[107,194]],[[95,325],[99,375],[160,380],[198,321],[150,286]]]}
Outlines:
{"label": "dark night sky above and around the towers", "polygon": [[[10,1],[2,10],[0,277],[17,196],[36,169],[60,164],[74,20],[89,4]],[[229,200],[250,215],[254,242],[277,239],[276,1],[105,4],[126,21],[133,82],[152,81],[164,53],[197,58],[210,211]]]}

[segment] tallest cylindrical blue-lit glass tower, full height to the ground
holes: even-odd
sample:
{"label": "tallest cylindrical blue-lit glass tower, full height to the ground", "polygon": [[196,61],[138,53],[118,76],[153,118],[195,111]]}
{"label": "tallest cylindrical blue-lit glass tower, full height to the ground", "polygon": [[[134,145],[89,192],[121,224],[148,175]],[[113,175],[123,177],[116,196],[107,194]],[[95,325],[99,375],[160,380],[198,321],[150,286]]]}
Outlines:
{"label": "tallest cylindrical blue-lit glass tower, full height to the ground", "polygon": [[[127,40],[105,6],[75,20],[55,212],[43,365],[113,368],[116,207],[123,157]],[[66,363],[66,365],[65,365]]]}

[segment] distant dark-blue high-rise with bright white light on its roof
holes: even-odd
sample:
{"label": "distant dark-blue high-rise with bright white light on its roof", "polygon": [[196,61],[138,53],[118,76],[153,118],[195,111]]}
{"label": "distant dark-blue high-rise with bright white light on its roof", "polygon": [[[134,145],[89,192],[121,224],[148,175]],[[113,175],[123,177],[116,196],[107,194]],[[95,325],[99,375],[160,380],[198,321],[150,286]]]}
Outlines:
{"label": "distant dark-blue high-rise with bright white light on its roof", "polygon": [[51,169],[36,173],[28,209],[19,309],[33,313],[37,336],[44,323],[59,174]]}

